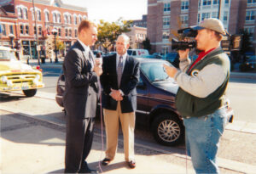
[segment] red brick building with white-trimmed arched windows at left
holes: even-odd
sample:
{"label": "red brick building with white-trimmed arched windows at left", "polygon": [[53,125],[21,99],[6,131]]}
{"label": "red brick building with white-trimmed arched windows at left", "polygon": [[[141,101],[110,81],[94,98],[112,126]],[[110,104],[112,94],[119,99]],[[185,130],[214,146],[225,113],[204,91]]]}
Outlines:
{"label": "red brick building with white-trimmed arched windows at left", "polygon": [[42,51],[47,48],[47,38],[53,37],[54,29],[65,48],[69,48],[77,39],[80,21],[88,18],[86,8],[65,4],[61,0],[34,0],[35,12],[32,0],[4,2],[0,3],[5,11],[5,14],[1,12],[0,22],[6,31],[2,33],[0,45],[10,45],[9,34],[13,26],[14,42],[20,45],[20,55],[23,57],[36,58],[37,31],[38,45]]}

